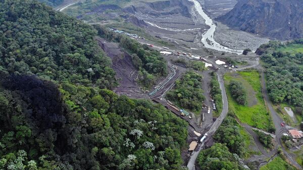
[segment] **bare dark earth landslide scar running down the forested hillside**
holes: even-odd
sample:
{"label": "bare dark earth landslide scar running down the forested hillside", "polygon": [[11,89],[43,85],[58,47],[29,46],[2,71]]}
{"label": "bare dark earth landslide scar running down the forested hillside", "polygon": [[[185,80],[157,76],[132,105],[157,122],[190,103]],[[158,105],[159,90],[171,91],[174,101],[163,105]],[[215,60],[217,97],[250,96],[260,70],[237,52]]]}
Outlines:
{"label": "bare dark earth landslide scar running down the forested hillside", "polygon": [[119,95],[127,95],[131,98],[148,98],[137,85],[137,69],[132,64],[131,56],[122,51],[117,43],[108,42],[103,38],[97,38],[98,44],[112,59],[112,68],[116,72],[119,86],[114,90]]}

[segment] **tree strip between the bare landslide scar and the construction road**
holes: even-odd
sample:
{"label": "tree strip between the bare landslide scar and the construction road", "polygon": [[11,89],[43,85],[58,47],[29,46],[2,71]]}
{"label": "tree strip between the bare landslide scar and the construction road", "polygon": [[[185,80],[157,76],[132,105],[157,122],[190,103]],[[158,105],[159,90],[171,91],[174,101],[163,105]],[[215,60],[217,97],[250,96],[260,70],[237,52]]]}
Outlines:
{"label": "tree strip between the bare landslide scar and the construction road", "polygon": [[110,31],[106,27],[94,25],[100,37],[112,42],[118,42],[131,56],[133,65],[139,70],[138,82],[144,87],[154,85],[157,77],[166,76],[167,65],[161,53],[155,49],[142,45],[127,35]]}

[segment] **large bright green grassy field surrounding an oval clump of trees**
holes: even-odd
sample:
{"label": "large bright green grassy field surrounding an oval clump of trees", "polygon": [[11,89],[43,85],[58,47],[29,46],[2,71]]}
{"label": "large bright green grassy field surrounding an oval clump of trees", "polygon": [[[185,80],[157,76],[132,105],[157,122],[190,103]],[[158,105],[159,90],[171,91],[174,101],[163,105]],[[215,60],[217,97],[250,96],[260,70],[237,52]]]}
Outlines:
{"label": "large bright green grassy field surrounding an oval clump of trees", "polygon": [[[232,97],[229,88],[230,80],[242,82],[247,94],[246,105],[238,104]],[[224,83],[229,109],[234,112],[241,122],[266,131],[273,127],[262,97],[260,74],[257,71],[227,73],[224,76]]]}

